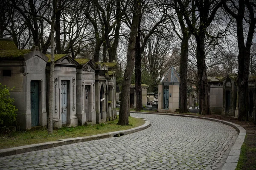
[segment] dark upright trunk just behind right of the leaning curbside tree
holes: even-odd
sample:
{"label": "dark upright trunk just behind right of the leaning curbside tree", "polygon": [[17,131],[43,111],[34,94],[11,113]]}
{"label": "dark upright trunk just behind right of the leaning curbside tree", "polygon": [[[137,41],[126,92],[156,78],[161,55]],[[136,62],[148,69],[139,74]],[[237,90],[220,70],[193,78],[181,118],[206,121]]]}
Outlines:
{"label": "dark upright trunk just behind right of the leaning curbside tree", "polygon": [[[141,12],[140,12],[141,14]],[[135,93],[136,93],[136,111],[142,110],[142,89],[141,89],[141,46],[140,46],[140,21],[135,46]]]}

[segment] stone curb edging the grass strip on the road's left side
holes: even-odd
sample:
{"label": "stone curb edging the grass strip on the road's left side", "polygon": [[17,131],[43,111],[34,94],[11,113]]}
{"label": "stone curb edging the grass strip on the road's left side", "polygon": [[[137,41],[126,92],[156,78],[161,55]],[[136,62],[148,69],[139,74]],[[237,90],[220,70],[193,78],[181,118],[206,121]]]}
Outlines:
{"label": "stone curb edging the grass strip on the road's left side", "polygon": [[20,153],[25,153],[25,152],[32,152],[32,151],[36,151],[36,150],[43,150],[43,149],[62,146],[62,145],[66,145],[66,144],[87,142],[87,141],[92,141],[92,140],[99,140],[99,139],[105,139],[105,138],[110,138],[110,137],[118,137],[118,136],[127,135],[130,133],[134,133],[134,132],[148,128],[150,126],[150,122],[148,122],[146,119],[144,119],[144,120],[145,120],[144,125],[141,125],[139,127],[134,127],[134,128],[128,129],[128,130],[120,130],[120,131],[116,131],[116,132],[102,133],[102,134],[98,134],[98,135],[84,136],[84,137],[77,137],[77,138],[59,139],[58,141],[45,142],[45,143],[39,143],[39,144],[29,144],[29,145],[25,145],[25,146],[1,149],[0,157],[20,154]]}

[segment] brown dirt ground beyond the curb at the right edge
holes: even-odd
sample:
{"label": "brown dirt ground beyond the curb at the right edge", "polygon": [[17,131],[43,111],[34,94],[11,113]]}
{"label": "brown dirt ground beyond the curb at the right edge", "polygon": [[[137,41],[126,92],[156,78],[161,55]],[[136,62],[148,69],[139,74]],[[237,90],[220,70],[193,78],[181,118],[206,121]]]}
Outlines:
{"label": "brown dirt ground beyond the curb at the right edge", "polygon": [[246,145],[245,160],[242,170],[256,170],[256,125],[253,122],[238,121],[237,118],[226,115],[204,115],[213,119],[225,120],[236,123],[246,130],[247,136],[244,139]]}

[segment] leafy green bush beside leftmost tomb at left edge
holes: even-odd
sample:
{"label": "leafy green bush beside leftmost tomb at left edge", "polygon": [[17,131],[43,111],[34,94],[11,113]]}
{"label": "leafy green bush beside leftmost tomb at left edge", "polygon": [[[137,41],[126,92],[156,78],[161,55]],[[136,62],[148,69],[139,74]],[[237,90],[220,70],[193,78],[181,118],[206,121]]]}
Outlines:
{"label": "leafy green bush beside leftmost tomb at left edge", "polygon": [[0,127],[12,125],[16,121],[16,112],[18,111],[13,105],[14,99],[10,98],[6,85],[0,83]]}

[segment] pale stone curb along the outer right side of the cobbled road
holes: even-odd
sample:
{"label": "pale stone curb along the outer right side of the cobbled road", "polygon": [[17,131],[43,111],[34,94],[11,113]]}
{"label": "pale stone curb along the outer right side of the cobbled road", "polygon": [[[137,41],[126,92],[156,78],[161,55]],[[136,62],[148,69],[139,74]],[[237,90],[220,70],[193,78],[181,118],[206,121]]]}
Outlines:
{"label": "pale stone curb along the outer right side of the cobbled road", "polygon": [[236,138],[236,142],[234,143],[233,147],[230,150],[230,153],[227,157],[227,160],[224,164],[224,166],[222,167],[222,170],[235,170],[236,166],[237,166],[237,162],[239,160],[239,156],[241,153],[241,146],[244,143],[244,138],[246,135],[246,130],[241,127],[240,125],[237,125],[235,123],[232,122],[227,122],[224,120],[218,120],[218,119],[212,119],[212,118],[208,118],[208,117],[198,117],[198,116],[192,116],[192,115],[180,115],[180,114],[174,114],[174,113],[147,113],[147,112],[134,112],[131,111],[130,113],[143,113],[143,114],[157,114],[157,115],[169,115],[169,116],[181,116],[181,117],[191,117],[191,118],[196,118],[196,119],[205,119],[205,120],[209,120],[209,121],[213,121],[213,122],[219,122],[219,123],[223,123],[225,125],[229,125],[231,127],[234,127],[236,129],[236,131],[239,132],[237,138]]}

